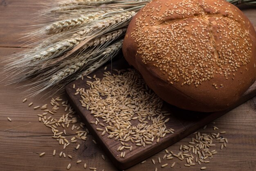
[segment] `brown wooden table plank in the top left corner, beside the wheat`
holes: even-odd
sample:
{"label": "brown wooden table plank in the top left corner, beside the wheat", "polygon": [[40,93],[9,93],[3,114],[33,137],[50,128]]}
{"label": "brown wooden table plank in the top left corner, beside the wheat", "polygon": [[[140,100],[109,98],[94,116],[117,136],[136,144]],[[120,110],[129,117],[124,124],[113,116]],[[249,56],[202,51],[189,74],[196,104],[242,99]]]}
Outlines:
{"label": "brown wooden table plank in the top left corner, beside the wheat", "polygon": [[[43,9],[43,5],[34,0],[1,0],[0,1],[0,47],[26,47],[25,42],[30,39],[20,39],[39,21],[37,11]],[[33,19],[34,18],[34,19]]]}

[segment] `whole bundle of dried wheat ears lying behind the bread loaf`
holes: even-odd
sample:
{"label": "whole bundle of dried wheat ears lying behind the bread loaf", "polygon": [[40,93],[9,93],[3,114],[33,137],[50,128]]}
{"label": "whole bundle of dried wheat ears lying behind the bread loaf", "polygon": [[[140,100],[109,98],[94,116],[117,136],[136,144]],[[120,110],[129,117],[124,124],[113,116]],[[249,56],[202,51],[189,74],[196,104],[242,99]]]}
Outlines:
{"label": "whole bundle of dried wheat ears lying behind the bread loaf", "polygon": [[[255,4],[255,0],[227,0]],[[36,95],[63,90],[110,61],[122,47],[132,17],[150,0],[50,0],[39,18],[50,22],[25,38],[34,48],[9,58],[9,83],[29,80],[27,92]]]}

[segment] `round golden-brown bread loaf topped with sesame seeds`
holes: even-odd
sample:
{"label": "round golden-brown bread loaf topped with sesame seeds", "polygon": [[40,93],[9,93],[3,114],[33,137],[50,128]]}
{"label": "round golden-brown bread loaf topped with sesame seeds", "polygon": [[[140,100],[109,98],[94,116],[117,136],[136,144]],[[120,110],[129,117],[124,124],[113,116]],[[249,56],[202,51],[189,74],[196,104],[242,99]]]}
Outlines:
{"label": "round golden-brown bread loaf topped with sesame seeds", "polygon": [[256,33],[225,0],[153,0],[128,26],[124,57],[164,101],[213,112],[256,79]]}

